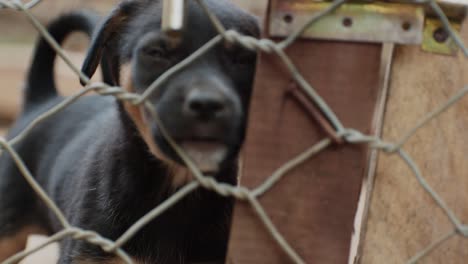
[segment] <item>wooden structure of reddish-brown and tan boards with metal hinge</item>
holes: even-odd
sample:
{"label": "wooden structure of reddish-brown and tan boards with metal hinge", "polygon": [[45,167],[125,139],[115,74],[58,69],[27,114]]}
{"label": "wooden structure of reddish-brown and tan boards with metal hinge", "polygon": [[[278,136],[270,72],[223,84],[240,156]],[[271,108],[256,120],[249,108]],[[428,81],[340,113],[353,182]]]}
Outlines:
{"label": "wooden structure of reddish-brown and tan boards with metal hinge", "polygon": [[[468,43],[466,1],[440,3]],[[263,36],[281,40],[330,4],[271,0]],[[397,142],[468,84],[468,60],[422,5],[346,3],[312,25],[286,53],[345,127],[388,142]],[[282,61],[261,54],[243,151],[243,186],[259,186],[286,161],[333,135],[316,110]],[[468,222],[467,129],[464,99],[404,145],[462,222]],[[363,144],[334,143],[259,201],[306,263],[404,263],[454,230],[398,156]],[[422,260],[466,263],[467,257],[468,239],[454,237]],[[291,260],[250,205],[237,202],[227,262]]]}

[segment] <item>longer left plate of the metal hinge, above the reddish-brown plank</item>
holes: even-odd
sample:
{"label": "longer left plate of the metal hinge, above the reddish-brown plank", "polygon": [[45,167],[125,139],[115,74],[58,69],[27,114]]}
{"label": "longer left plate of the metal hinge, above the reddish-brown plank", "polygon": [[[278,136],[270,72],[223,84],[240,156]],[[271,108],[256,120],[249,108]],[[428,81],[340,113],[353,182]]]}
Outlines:
{"label": "longer left plate of the metal hinge, above the reddish-brown plank", "polygon": [[[273,0],[269,33],[285,37],[310,16],[330,5],[312,0]],[[419,44],[423,39],[424,8],[399,3],[346,3],[304,32],[305,38],[358,42]]]}

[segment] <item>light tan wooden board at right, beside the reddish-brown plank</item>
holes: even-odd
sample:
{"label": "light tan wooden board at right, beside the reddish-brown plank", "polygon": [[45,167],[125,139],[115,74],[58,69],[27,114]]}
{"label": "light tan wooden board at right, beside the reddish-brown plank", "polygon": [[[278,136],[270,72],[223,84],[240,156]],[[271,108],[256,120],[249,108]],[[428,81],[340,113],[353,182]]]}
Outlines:
{"label": "light tan wooden board at right, beside the reddish-brown plank", "polygon": [[[468,22],[462,36],[468,43]],[[399,139],[426,113],[468,84],[468,60],[397,47],[384,138]],[[429,184],[468,223],[468,98],[422,128],[406,145]],[[361,262],[404,263],[453,227],[396,156],[380,155]],[[468,239],[455,237],[420,263],[467,263]]]}

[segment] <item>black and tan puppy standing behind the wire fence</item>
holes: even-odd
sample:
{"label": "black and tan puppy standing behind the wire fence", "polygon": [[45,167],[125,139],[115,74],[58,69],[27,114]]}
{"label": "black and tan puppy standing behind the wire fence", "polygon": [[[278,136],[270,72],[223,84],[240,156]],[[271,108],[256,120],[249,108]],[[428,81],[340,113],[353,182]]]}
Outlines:
{"label": "black and tan puppy standing behind the wire fence", "polygon": [[[206,3],[226,28],[258,35],[256,19],[229,1]],[[172,45],[160,31],[161,12],[160,1],[120,4],[95,33],[84,72],[92,75],[104,54],[114,62],[109,69],[113,84],[142,93],[217,35],[203,10],[188,1],[185,31],[180,43]],[[24,112],[10,138],[62,100],[49,61],[55,54],[47,48],[49,55],[37,59],[44,49],[37,50]],[[254,53],[220,44],[149,98],[177,143],[219,181],[236,183],[254,68]],[[82,98],[39,125],[16,150],[72,225],[112,240],[192,179],[148,114],[111,97]],[[0,159],[0,196],[0,245],[20,241],[35,229],[51,234],[62,228],[7,155]],[[124,249],[137,263],[222,263],[231,210],[231,199],[199,189]],[[0,259],[6,254],[0,248]],[[118,261],[96,246],[68,239],[61,244],[59,262]]]}

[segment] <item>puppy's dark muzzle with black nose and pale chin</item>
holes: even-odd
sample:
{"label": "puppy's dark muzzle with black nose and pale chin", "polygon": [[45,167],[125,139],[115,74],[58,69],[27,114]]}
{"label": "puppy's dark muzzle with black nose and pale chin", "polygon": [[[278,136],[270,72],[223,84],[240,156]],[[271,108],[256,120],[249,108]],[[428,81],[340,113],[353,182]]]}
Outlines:
{"label": "puppy's dark muzzle with black nose and pale chin", "polygon": [[[216,173],[237,151],[242,138],[240,99],[219,83],[187,85],[172,91],[158,105],[163,124],[185,153],[204,173]],[[158,130],[154,136],[160,137]],[[157,140],[158,141],[158,140]],[[169,157],[174,153],[163,149]]]}

